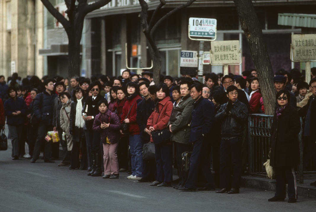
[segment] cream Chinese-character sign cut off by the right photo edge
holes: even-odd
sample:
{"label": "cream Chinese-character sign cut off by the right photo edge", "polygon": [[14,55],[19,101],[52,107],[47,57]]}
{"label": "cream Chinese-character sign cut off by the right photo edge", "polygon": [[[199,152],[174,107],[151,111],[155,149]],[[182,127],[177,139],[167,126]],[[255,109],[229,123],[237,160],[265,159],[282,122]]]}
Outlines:
{"label": "cream Chinese-character sign cut off by the right photo edge", "polygon": [[316,60],[316,34],[292,35],[293,61]]}

